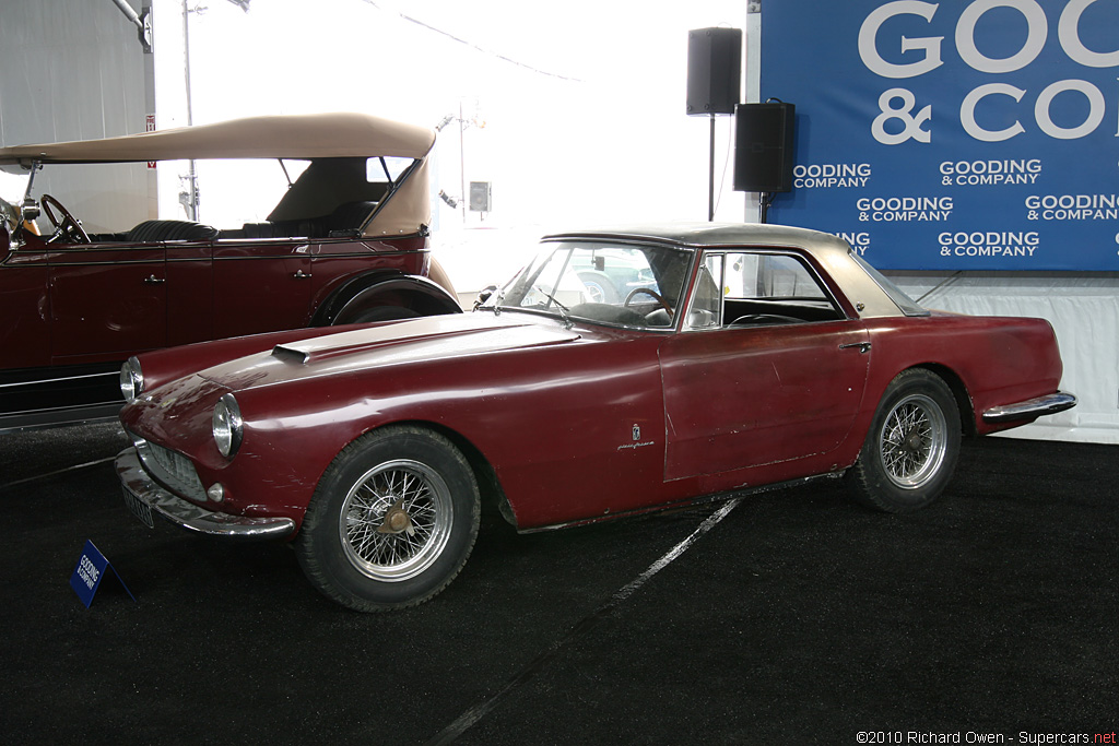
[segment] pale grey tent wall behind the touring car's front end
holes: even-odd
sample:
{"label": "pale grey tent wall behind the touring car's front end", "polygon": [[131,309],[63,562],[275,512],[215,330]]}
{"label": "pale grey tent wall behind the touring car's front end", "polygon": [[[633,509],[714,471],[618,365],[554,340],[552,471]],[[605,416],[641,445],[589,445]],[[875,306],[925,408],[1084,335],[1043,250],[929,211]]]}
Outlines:
{"label": "pale grey tent wall behind the touring car's front end", "polygon": [[[0,144],[143,132],[145,64],[137,27],[113,0],[3,0]],[[35,181],[37,195],[56,196],[91,233],[147,219],[153,189],[143,164],[46,168]]]}

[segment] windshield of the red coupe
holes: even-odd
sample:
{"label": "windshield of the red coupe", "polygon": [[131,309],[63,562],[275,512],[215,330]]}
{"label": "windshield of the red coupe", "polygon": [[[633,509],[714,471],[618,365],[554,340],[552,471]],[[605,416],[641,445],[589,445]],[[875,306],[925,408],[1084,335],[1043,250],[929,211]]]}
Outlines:
{"label": "windshield of the red coupe", "polygon": [[674,325],[694,253],[580,240],[544,251],[482,304],[643,329]]}

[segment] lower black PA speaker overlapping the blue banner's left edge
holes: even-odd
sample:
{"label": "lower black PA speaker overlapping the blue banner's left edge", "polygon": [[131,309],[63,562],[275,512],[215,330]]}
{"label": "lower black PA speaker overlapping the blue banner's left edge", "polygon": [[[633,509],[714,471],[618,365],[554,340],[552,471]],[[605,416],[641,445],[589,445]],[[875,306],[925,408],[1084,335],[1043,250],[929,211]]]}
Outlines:
{"label": "lower black PA speaker overlapping the blue banner's left edge", "polygon": [[793,104],[739,104],[734,107],[734,189],[792,191]]}

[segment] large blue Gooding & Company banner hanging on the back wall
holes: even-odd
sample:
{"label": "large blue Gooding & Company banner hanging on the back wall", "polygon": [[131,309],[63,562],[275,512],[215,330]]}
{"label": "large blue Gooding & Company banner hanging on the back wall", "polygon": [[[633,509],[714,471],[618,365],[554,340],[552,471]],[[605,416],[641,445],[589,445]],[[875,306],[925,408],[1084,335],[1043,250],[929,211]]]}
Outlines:
{"label": "large blue Gooding & Company banner hanging on the back wall", "polygon": [[797,106],[770,221],[884,270],[1119,270],[1119,0],[775,0]]}

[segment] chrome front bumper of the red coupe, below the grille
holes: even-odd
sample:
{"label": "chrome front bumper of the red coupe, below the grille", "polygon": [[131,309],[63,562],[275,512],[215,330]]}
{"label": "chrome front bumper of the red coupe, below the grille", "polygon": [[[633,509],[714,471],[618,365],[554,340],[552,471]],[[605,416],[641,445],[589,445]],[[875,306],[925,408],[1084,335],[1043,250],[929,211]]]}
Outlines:
{"label": "chrome front bumper of the red coupe, below the grille", "polygon": [[115,465],[121,487],[129,495],[148,506],[152,513],[188,531],[241,539],[282,539],[295,530],[295,521],[290,518],[229,516],[199,508],[171,494],[148,476],[135,448],[121,451]]}

